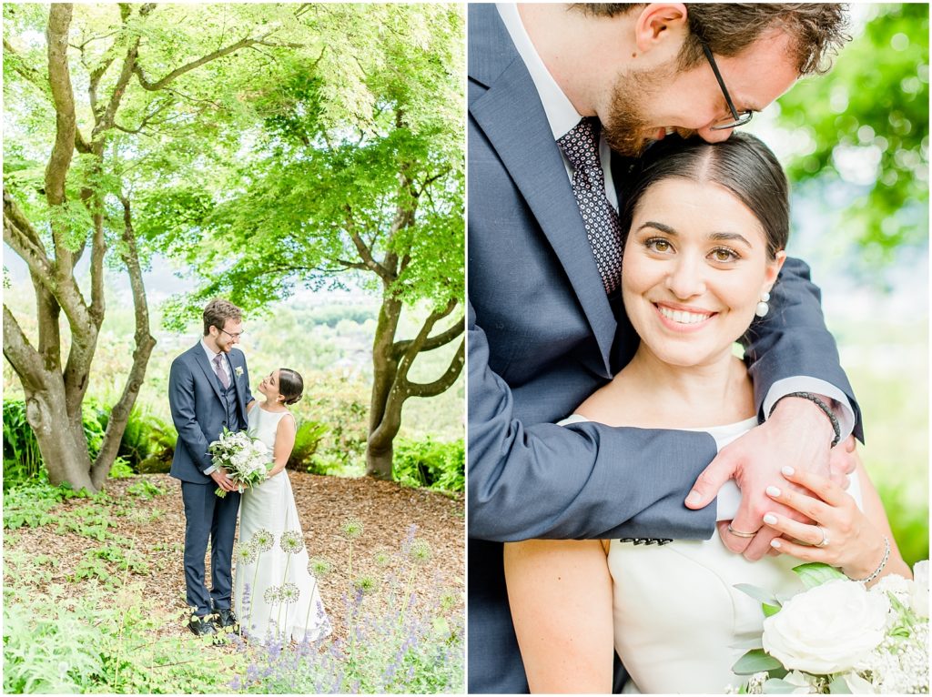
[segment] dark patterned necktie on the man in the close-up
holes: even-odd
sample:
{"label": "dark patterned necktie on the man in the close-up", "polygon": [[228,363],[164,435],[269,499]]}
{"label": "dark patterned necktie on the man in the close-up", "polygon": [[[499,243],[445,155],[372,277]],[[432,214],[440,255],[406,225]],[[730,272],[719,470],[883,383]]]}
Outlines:
{"label": "dark patterned necktie on the man in the close-up", "polygon": [[598,158],[598,119],[585,116],[556,139],[573,168],[572,186],[583,214],[586,237],[596,257],[605,292],[618,288],[622,275],[622,226],[605,195],[605,172]]}

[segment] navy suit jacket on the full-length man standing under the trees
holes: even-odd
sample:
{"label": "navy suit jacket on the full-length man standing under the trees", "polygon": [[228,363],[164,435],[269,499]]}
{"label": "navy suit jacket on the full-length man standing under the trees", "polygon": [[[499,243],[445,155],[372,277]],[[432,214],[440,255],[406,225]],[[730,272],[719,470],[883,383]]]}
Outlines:
{"label": "navy suit jacket on the full-length man standing under the trees", "polygon": [[246,357],[240,349],[231,350],[226,357],[236,388],[237,417],[240,419],[236,424],[227,423],[221,385],[200,342],[171,362],[169,404],[171,420],[178,431],[171,476],[183,482],[209,483],[211,477],[204,474],[204,470],[213,463],[207,446],[220,436],[224,427],[239,431],[248,423],[246,404],[253,401],[253,393],[249,389]]}

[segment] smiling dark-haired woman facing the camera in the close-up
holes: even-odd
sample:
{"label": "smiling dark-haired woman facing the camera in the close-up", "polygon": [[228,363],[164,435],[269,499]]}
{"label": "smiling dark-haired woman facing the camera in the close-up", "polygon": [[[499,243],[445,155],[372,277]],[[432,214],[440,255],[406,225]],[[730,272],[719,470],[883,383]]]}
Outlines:
{"label": "smiling dark-haired woman facing the camera in the close-up", "polygon": [[[753,136],[734,133],[720,144],[668,137],[652,146],[621,215],[624,308],[640,345],[564,423],[708,431],[719,449],[756,426],[751,378],[733,342],[755,313],[768,319],[788,208],[786,177]],[[734,647],[761,635],[760,604],[735,583],[801,590],[791,571],[799,559],[866,582],[910,576],[863,466],[848,492],[816,474],[785,468],[784,476],[768,495],[810,523],[765,514],[761,526],[782,536],[756,563],[729,552],[718,533],[665,545],[506,544],[508,599],[531,691],[610,692],[615,650],[631,676],[625,691],[717,693],[737,682],[731,666],[744,651]]]}

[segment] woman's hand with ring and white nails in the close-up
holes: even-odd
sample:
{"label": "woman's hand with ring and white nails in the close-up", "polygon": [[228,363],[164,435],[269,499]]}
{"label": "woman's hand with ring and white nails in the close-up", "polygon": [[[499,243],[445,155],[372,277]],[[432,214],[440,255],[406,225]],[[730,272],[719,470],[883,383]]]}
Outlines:
{"label": "woman's hand with ring and white nails in the close-up", "polygon": [[813,472],[785,467],[782,473],[788,482],[804,486],[807,492],[768,486],[767,495],[815,523],[805,525],[774,511],[765,513],[764,525],[782,534],[771,542],[774,549],[803,561],[840,567],[851,579],[870,576],[884,557],[884,535],[857,508],[855,499],[829,478]]}

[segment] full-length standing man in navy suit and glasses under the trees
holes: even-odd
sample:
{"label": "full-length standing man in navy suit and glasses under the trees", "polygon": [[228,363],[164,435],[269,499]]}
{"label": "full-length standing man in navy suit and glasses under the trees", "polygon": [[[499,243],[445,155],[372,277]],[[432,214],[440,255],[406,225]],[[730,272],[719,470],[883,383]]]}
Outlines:
{"label": "full-length standing man in navy suit and glasses under the trees", "polygon": [[[213,465],[208,445],[223,430],[247,426],[246,407],[253,402],[246,358],[235,349],[242,335],[242,312],[226,300],[204,308],[201,340],[171,362],[169,403],[178,431],[171,476],[181,480],[185,501],[185,587],[191,608],[188,628],[195,635],[236,627],[230,608],[233,587],[233,538],[240,494],[226,470]],[[214,490],[224,489],[220,498]],[[212,589],[204,584],[204,555],[211,542]]]}

